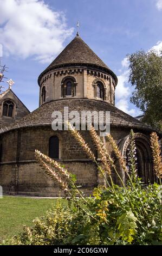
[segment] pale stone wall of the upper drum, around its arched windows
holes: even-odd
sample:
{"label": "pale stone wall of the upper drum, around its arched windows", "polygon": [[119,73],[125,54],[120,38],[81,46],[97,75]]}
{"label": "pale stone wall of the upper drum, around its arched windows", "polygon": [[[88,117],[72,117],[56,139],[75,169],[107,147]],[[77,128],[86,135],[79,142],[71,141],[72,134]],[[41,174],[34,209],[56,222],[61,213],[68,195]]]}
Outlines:
{"label": "pale stone wall of the upper drum, around its arched windows", "polygon": [[[74,77],[76,80],[76,98],[88,98],[88,99],[97,99],[94,97],[94,81],[99,80],[103,83],[106,88],[106,102],[114,104],[114,95],[115,95],[115,81],[110,75],[95,72],[92,70],[87,70],[83,67],[71,67],[66,69],[58,69],[48,72],[41,79],[40,86],[40,106],[41,102],[41,93],[43,86],[46,87],[46,102],[51,100],[62,99],[61,96],[61,83],[65,77]],[[72,96],[67,96],[72,98]],[[66,97],[66,98],[67,98]],[[101,100],[101,99],[98,99]]]}

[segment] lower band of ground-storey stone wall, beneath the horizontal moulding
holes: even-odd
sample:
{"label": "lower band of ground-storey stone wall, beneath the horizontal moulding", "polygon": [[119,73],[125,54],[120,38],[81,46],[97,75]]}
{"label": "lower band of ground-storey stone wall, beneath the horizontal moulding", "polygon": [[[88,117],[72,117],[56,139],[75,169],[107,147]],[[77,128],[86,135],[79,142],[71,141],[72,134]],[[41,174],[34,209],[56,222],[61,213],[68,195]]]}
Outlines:
{"label": "lower band of ground-storey stone wall, beneath the horizontal moulding", "polygon": [[[91,161],[60,161],[76,175],[77,185],[85,194],[92,193],[98,184],[97,169]],[[52,181],[37,162],[1,164],[0,185],[5,194],[31,196],[59,196],[64,194],[57,182]]]}

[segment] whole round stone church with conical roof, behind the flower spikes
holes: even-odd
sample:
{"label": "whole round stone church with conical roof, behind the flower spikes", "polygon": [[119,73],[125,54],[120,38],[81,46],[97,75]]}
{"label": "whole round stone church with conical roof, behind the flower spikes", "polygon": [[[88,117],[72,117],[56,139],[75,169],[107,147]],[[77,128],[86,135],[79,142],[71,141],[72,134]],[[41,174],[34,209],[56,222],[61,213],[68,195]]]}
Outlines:
{"label": "whole round stone church with conical roof, behind the flower spikes", "polygon": [[[35,149],[50,156],[76,174],[85,194],[102,183],[98,169],[68,130],[53,130],[53,112],[107,111],[110,132],[127,158],[128,135],[135,132],[138,175],[147,184],[155,176],[152,168],[152,128],[115,107],[114,72],[81,39],[79,34],[38,77],[39,107],[32,113],[9,88],[0,95],[0,185],[5,194],[59,196],[60,188],[35,160]],[[100,156],[88,131],[80,131],[96,159]],[[108,142],[105,145],[110,151]],[[113,152],[112,152],[113,154]],[[118,164],[116,162],[116,164]],[[125,174],[120,169],[122,178]],[[114,175],[114,182],[118,182]]]}

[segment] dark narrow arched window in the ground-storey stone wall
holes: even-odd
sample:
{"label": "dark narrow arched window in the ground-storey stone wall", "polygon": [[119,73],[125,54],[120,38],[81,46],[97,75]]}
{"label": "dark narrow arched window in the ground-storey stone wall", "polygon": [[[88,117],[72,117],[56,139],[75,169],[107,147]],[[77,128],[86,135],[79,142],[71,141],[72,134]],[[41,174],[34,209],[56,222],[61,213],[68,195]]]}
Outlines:
{"label": "dark narrow arched window in the ground-storey stone wall", "polygon": [[49,138],[48,155],[52,159],[59,159],[59,138],[57,136],[51,136]]}

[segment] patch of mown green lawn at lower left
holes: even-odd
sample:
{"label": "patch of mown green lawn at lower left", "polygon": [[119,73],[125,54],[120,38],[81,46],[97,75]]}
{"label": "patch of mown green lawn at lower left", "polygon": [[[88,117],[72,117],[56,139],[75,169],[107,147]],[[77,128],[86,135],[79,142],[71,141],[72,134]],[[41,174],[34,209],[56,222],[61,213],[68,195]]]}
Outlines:
{"label": "patch of mown green lawn at lower left", "polygon": [[0,243],[23,230],[23,224],[33,225],[36,217],[44,216],[56,204],[57,199],[35,199],[25,197],[0,198]]}

